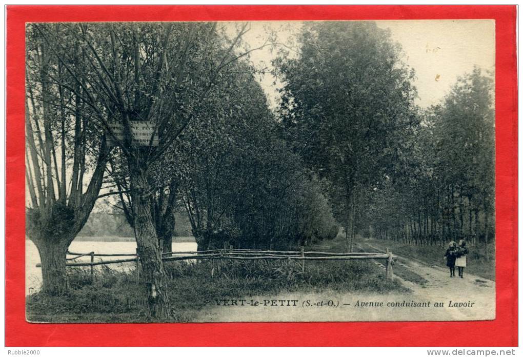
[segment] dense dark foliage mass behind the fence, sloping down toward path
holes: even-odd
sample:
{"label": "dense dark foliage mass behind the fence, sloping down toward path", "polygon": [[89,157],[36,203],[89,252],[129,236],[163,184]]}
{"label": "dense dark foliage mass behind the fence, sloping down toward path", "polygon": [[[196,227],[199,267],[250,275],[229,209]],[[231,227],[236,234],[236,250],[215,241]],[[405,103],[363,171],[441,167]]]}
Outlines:
{"label": "dense dark foliage mass behind the fence, sloping down toward path", "polygon": [[[173,147],[180,200],[200,250],[289,247],[337,234],[319,183],[279,137],[253,74],[247,63],[238,63],[222,82],[219,100]],[[300,217],[299,210],[308,216]]]}

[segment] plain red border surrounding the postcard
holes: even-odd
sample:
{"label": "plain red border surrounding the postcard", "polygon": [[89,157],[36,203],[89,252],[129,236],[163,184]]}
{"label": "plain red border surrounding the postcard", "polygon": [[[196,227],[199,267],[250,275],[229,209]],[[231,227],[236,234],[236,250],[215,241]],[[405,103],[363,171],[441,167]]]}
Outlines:
{"label": "plain red border surrounding the postcard", "polygon": [[[30,21],[496,20],[496,319],[39,325],[25,321],[24,28]],[[517,76],[515,6],[8,6],[6,345],[517,345]]]}

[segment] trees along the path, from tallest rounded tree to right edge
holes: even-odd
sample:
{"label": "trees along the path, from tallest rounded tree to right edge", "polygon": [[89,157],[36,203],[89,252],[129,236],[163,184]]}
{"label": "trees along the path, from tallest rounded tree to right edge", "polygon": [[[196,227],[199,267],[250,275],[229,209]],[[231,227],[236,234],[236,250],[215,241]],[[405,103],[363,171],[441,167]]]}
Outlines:
{"label": "trees along the path, from tallest rounded tree to right edge", "polygon": [[415,72],[390,32],[365,21],[305,24],[276,61],[289,142],[330,183],[355,238],[408,244],[494,239],[494,86],[464,73],[441,103],[415,104]]}

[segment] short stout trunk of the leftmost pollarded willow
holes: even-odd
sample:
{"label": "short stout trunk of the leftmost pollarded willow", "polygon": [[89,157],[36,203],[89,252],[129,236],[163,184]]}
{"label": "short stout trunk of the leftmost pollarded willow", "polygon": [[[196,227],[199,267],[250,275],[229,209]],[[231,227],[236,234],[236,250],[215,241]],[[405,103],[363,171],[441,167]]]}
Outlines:
{"label": "short stout trunk of the leftmost pollarded willow", "polygon": [[67,289],[65,258],[71,240],[67,237],[33,240],[42,263],[42,289],[48,295],[61,295]]}

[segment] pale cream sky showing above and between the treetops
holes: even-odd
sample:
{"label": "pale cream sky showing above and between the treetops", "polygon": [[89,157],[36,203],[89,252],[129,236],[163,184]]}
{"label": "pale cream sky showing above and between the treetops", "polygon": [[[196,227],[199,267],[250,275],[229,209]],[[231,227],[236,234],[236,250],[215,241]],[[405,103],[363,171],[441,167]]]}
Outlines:
{"label": "pale cream sky showing above and between the treetops", "polygon": [[[392,40],[403,48],[404,61],[416,71],[416,104],[421,107],[438,104],[458,77],[471,72],[474,65],[494,71],[494,20],[380,20],[376,23],[380,28],[390,29]],[[253,21],[249,25],[251,29],[244,40],[253,49],[264,43],[267,29],[277,32],[278,42],[287,43],[302,23]],[[234,24],[225,26],[229,34],[234,33]],[[257,66],[270,67],[270,61],[276,55],[277,51],[266,47],[253,51],[251,61]],[[260,83],[269,103],[275,107],[281,83],[268,74]]]}

